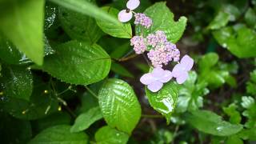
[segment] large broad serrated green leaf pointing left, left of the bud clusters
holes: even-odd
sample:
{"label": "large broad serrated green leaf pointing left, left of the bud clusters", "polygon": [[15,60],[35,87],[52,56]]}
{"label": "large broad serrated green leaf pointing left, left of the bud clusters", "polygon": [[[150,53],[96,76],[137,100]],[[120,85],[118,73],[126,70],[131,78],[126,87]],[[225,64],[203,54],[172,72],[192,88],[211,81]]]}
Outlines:
{"label": "large broad serrated green leaf pointing left, left of the bud clusters", "polygon": [[56,54],[45,58],[42,70],[64,82],[89,85],[106,77],[110,56],[96,44],[70,41],[55,48]]}

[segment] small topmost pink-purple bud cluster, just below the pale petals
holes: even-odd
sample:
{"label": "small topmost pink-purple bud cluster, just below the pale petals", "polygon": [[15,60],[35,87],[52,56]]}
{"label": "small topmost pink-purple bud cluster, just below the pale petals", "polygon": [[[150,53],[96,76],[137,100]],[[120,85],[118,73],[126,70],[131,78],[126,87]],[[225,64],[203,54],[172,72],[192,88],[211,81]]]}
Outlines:
{"label": "small topmost pink-purple bud cluster, just below the pale petals", "polygon": [[146,29],[150,28],[150,26],[152,25],[152,19],[147,17],[146,14],[137,13],[137,14],[134,14],[134,16],[135,16],[135,21],[134,21],[135,25],[145,26]]}

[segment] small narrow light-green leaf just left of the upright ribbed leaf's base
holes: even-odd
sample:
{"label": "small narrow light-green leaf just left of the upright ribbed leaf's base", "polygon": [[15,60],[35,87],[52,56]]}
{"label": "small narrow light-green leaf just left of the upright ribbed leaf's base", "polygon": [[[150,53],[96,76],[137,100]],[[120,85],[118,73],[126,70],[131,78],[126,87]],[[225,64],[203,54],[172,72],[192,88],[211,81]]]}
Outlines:
{"label": "small narrow light-green leaf just left of the upright ribbed leaf's base", "polygon": [[75,119],[74,125],[71,127],[70,132],[79,132],[86,130],[91,124],[102,118],[102,112],[99,107],[94,107],[86,113],[82,113]]}

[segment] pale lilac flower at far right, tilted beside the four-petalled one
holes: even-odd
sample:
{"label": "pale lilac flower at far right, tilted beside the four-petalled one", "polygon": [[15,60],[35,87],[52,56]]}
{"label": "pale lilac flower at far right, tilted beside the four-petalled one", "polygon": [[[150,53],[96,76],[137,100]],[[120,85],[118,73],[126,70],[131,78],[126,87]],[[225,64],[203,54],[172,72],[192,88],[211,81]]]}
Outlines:
{"label": "pale lilac flower at far right, tilted beside the four-petalled one", "polygon": [[189,77],[188,72],[192,69],[194,60],[190,56],[185,55],[181,62],[174,66],[172,75],[176,78],[178,84],[182,84]]}

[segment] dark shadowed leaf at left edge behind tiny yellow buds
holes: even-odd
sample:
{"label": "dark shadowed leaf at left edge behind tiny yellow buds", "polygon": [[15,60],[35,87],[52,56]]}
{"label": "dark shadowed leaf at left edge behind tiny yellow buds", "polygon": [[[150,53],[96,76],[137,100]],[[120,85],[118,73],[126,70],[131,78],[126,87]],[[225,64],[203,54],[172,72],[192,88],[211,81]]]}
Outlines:
{"label": "dark shadowed leaf at left edge behind tiny yellow buds", "polygon": [[34,78],[34,90],[30,102],[19,98],[3,97],[0,104],[15,118],[33,120],[46,117],[58,110],[58,101],[48,83]]}

